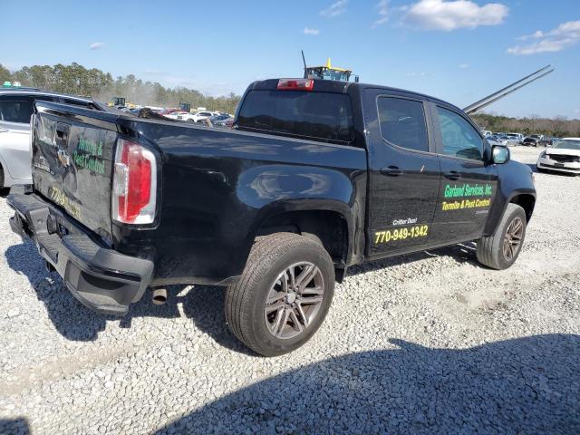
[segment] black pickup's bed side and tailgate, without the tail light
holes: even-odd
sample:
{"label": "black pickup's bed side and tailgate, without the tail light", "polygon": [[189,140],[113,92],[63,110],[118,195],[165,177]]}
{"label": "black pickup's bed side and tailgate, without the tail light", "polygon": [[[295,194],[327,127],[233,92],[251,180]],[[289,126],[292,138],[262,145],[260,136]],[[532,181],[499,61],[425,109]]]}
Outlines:
{"label": "black pickup's bed side and tailgate, without the tail light", "polygon": [[[102,247],[152,261],[150,285],[227,284],[243,270],[260,226],[288,210],[340,212],[351,240],[353,222],[364,222],[363,149],[51,102],[36,107],[34,193],[86,227]],[[111,220],[120,139],[158,156],[153,224]]]}

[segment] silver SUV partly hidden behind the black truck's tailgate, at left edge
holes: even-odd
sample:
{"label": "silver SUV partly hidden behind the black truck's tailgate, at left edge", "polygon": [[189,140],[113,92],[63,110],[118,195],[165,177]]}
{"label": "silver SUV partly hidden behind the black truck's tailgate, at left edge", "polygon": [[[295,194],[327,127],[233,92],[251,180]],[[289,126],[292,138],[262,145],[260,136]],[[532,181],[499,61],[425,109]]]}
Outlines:
{"label": "silver SUV partly hidden behind the black truck's tailgate, at left edge", "polygon": [[0,189],[32,183],[30,117],[36,100],[103,110],[97,102],[72,95],[34,88],[0,87]]}

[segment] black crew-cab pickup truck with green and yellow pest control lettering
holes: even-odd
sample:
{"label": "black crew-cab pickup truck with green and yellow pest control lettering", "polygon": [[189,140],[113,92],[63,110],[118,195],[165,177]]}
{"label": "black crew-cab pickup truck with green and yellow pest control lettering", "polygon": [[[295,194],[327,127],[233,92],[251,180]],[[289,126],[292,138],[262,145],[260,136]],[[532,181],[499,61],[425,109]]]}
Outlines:
{"label": "black crew-cab pickup truck with green and yellow pest control lettering", "polygon": [[233,130],[37,102],[32,133],[11,227],[82,304],[224,285],[227,324],[263,355],[314,334],[350,266],[466,241],[511,266],[536,202],[463,111],[362,83],[254,82]]}

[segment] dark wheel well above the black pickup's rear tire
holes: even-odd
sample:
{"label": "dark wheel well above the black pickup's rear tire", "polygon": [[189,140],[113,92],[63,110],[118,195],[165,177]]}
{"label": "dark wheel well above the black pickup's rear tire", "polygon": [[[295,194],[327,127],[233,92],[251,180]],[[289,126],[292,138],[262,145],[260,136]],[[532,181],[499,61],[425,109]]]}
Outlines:
{"label": "dark wheel well above the black pickup's rear tire", "polygon": [[333,258],[335,266],[344,267],[348,256],[348,225],[343,216],[330,210],[288,211],[267,218],[257,236],[277,232],[314,235]]}

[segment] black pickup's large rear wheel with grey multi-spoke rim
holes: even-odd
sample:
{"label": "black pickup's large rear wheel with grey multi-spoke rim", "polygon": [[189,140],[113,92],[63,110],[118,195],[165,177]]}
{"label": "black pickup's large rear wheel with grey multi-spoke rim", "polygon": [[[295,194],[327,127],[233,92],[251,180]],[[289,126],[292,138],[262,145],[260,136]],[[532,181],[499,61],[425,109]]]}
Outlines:
{"label": "black pickup's large rear wheel with grey multi-spoke rim", "polygon": [[[290,269],[295,287],[289,284]],[[308,281],[300,285],[300,276]],[[293,233],[256,237],[244,272],[227,287],[226,321],[237,339],[256,353],[282,355],[314,335],[333,292],[333,261],[322,245]]]}

